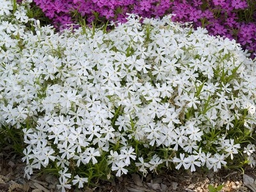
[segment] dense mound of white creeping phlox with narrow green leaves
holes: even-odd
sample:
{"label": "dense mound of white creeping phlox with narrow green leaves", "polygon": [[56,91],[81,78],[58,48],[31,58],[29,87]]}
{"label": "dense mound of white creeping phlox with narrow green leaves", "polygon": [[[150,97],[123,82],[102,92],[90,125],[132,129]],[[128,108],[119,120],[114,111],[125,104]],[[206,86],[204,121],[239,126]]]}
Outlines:
{"label": "dense mound of white creeping phlox with narrow green leaves", "polygon": [[255,165],[256,63],[234,40],[172,15],[54,33],[29,21],[29,3],[0,3],[1,132],[23,131],[26,177],[58,174],[65,191]]}

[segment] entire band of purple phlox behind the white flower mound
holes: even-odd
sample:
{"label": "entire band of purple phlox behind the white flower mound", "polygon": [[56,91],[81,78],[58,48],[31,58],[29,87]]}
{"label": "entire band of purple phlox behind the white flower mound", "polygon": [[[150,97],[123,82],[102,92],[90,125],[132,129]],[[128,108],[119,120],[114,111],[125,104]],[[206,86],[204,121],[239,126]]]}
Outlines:
{"label": "entire band of purple phlox behind the white flower mound", "polygon": [[[34,0],[58,29],[74,21],[76,10],[87,24],[98,20],[125,22],[126,13],[141,17],[162,17],[173,13],[173,21],[193,22],[210,35],[237,40],[244,49],[256,50],[256,3],[252,0]],[[250,15],[250,20],[246,18]]]}

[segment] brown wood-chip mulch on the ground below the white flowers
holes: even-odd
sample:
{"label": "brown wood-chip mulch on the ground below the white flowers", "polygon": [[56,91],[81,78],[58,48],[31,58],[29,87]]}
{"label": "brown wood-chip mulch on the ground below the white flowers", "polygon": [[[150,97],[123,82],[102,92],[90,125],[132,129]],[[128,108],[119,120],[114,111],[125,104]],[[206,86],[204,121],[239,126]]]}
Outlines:
{"label": "brown wood-chip mulch on the ground below the white flowers", "polygon": [[[12,152],[0,152],[0,192],[54,192],[58,191],[56,184],[58,178],[53,175],[33,175],[30,180],[24,179],[24,166],[26,166],[17,154]],[[250,175],[250,182],[256,184],[256,170],[245,170]],[[245,175],[244,174],[244,175]],[[170,171],[164,175],[148,174],[141,177],[139,174],[124,175],[112,182],[100,182],[93,188],[77,189],[72,188],[70,192],[205,192],[209,191],[208,186],[224,185],[222,192],[241,191],[255,192],[244,184],[244,175],[239,171],[221,171],[218,173],[200,171],[177,172]],[[255,180],[252,180],[254,178]],[[245,181],[246,182],[246,181]],[[248,188],[247,188],[247,187]]]}

